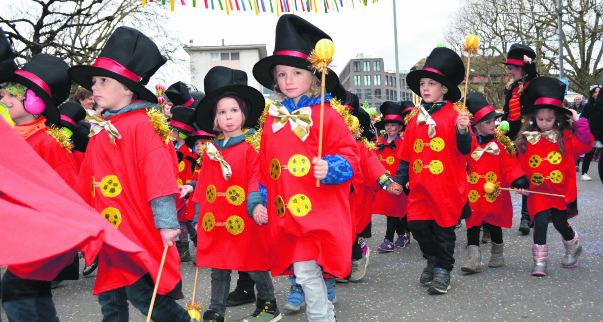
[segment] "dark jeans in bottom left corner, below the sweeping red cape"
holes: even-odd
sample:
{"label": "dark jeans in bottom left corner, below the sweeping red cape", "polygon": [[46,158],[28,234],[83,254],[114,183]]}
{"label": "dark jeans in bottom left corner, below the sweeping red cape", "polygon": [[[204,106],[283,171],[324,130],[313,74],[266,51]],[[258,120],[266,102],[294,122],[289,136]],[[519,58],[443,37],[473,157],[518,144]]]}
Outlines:
{"label": "dark jeans in bottom left corner, below the sweeping red cape", "polygon": [[50,282],[22,279],[6,271],[2,276],[2,307],[9,322],[57,322]]}

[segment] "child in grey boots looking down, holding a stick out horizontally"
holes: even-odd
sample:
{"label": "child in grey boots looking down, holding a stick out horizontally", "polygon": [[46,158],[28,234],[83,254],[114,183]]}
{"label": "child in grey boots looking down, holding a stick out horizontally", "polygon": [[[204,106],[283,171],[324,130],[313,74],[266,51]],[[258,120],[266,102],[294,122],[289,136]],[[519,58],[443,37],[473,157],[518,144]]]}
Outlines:
{"label": "child in grey boots looking down, holding a stick out horizontally", "polygon": [[481,227],[488,229],[492,238],[488,267],[501,267],[505,262],[501,227],[511,228],[513,223],[513,205],[509,191],[502,190],[500,194],[485,193],[485,182],[500,184],[502,187],[528,188],[529,181],[517,161],[510,138],[500,132],[495,133],[494,120],[503,114],[494,111],[481,93],[467,95],[466,104],[473,114],[471,126],[478,140],[478,147],[467,158],[469,205],[472,212],[471,217],[465,221],[469,262],[461,266],[461,271],[479,273],[482,271],[482,250],[479,247]]}

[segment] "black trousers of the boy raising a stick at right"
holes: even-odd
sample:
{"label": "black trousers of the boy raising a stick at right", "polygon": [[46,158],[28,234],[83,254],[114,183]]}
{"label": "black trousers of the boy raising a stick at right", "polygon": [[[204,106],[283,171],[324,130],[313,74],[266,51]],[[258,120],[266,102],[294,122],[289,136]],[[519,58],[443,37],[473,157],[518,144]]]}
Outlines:
{"label": "black trousers of the boy raising a stick at right", "polygon": [[442,227],[435,220],[410,220],[408,228],[427,256],[435,256],[435,267],[452,271],[454,267],[455,226]]}

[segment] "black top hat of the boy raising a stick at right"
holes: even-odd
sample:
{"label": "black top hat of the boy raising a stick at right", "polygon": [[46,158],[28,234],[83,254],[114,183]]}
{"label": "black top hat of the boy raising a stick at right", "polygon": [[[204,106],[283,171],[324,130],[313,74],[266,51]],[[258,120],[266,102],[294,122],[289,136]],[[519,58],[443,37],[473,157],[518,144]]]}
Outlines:
{"label": "black top hat of the boy raising a stick at right", "polygon": [[413,70],[406,75],[406,83],[415,94],[421,96],[418,86],[421,78],[434,79],[448,88],[444,99],[454,103],[461,99],[458,84],[463,82],[464,77],[465,65],[461,57],[450,48],[438,47],[431,51],[423,69]]}

